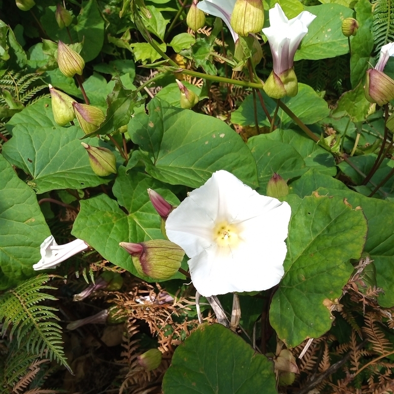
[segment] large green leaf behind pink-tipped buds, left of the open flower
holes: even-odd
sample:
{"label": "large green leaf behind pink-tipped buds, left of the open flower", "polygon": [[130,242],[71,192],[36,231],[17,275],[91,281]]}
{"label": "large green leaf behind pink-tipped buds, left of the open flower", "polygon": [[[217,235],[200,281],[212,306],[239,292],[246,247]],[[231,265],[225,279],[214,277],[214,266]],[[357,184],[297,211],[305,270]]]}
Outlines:
{"label": "large green leaf behind pink-tipped buds, left of the open flower", "polygon": [[[72,235],[88,242],[111,263],[139,276],[129,253],[119,246],[119,242],[143,242],[164,238],[160,230],[160,216],[149,200],[148,188],[156,190],[169,203],[179,205],[179,200],[162,182],[139,172],[131,171],[126,175],[125,167],[121,166],[112,188],[118,202],[106,194],[82,200]],[[174,277],[184,278],[179,273]],[[143,279],[154,281],[149,277]]]}

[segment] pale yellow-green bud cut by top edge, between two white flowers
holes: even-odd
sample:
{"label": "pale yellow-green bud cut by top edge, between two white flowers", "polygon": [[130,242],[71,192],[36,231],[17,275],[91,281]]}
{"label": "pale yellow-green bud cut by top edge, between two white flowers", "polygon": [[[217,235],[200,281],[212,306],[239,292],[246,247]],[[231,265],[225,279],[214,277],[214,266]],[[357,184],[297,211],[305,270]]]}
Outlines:
{"label": "pale yellow-green bud cut by top edge, between two white flowers", "polygon": [[247,36],[263,29],[264,8],[262,0],[236,0],[230,24],[239,35]]}

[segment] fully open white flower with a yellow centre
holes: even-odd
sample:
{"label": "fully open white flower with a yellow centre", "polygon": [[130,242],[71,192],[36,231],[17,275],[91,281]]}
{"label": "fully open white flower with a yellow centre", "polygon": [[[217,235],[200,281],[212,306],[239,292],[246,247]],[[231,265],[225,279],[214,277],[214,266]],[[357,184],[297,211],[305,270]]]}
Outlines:
{"label": "fully open white flower with a yellow centre", "polygon": [[286,202],[262,196],[221,170],[168,215],[165,230],[189,256],[198,293],[210,297],[279,283],[290,215]]}

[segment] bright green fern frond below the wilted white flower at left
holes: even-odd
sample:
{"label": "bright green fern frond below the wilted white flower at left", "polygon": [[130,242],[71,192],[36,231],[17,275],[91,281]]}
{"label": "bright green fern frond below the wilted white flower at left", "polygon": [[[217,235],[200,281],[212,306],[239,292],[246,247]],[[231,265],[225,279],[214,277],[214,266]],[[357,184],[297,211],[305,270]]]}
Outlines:
{"label": "bright green fern frond below the wilted white flower at left", "polygon": [[17,333],[18,346],[22,340],[26,340],[29,353],[40,356],[45,354],[45,357],[55,359],[71,371],[62,346],[62,328],[54,322],[59,320],[53,313],[57,309],[40,304],[43,301],[56,300],[55,297],[41,292],[55,289],[45,285],[48,281],[48,275],[38,275],[1,296],[0,321],[3,320],[4,324],[0,334],[3,335],[12,324],[9,335],[12,337]]}

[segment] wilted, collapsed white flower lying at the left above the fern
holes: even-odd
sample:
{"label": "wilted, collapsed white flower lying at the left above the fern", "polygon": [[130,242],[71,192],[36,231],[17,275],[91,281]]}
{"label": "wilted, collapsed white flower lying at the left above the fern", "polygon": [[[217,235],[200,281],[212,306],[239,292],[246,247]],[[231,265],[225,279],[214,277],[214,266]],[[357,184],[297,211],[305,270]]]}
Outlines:
{"label": "wilted, collapsed white flower lying at the left above the fern", "polygon": [[49,236],[40,245],[41,260],[33,265],[33,270],[46,270],[47,268],[55,268],[62,261],[69,257],[86,250],[89,245],[82,240],[76,239],[64,245],[58,245],[53,238]]}

